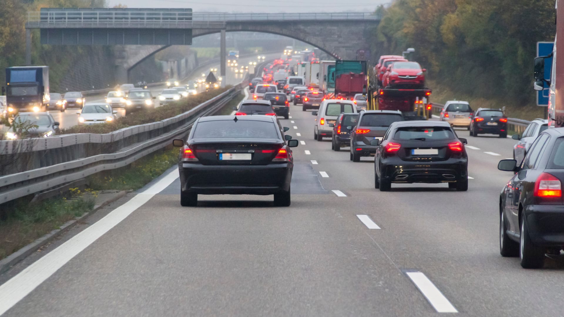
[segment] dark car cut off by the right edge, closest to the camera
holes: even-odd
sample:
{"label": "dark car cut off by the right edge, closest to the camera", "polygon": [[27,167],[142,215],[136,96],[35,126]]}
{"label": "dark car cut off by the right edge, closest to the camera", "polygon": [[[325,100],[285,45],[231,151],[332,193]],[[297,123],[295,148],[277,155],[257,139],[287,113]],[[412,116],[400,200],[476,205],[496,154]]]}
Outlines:
{"label": "dark car cut off by the right edge, closest to the camera", "polygon": [[500,253],[542,267],[545,254],[558,256],[564,245],[564,128],[541,133],[521,166],[501,160],[497,168],[515,173],[500,194]]}

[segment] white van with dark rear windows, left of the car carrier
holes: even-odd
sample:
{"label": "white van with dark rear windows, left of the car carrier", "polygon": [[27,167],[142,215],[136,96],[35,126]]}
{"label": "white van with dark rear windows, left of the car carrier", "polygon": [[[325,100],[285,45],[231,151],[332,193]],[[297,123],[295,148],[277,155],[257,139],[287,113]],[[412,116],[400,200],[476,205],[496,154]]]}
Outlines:
{"label": "white van with dark rear windows, left of the car carrier", "polygon": [[323,138],[332,138],[333,128],[329,124],[334,124],[341,113],[357,113],[354,102],[338,99],[323,100],[319,105],[319,111],[311,113],[317,116],[314,125],[314,139],[323,141]]}

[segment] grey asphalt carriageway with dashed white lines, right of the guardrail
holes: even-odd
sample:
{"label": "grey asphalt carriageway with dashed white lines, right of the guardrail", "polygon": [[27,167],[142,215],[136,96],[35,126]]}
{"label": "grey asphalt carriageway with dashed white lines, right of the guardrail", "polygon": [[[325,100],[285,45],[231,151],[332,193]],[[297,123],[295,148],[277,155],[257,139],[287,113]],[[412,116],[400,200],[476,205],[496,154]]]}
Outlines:
{"label": "grey asphalt carriageway with dashed white lines, right of the guardrail", "polygon": [[373,158],[354,163],[348,148],[314,140],[315,117],[290,107],[280,120],[301,141],[290,207],[275,208],[271,196],[202,195],[182,208],[173,168],[20,274],[25,265],[1,276],[0,313],[562,315],[561,264],[524,270],[499,254],[499,192],[511,175],[496,166],[512,157],[514,140],[457,130],[469,140],[468,192],[446,184],[380,192]]}

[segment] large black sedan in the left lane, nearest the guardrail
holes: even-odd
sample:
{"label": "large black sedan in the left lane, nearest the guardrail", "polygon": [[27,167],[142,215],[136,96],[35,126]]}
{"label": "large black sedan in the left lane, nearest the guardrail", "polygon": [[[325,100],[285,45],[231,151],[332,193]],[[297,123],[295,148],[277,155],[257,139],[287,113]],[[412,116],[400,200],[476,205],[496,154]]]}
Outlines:
{"label": "large black sedan in the left lane, nearest the guardrail", "polygon": [[[289,136],[288,136],[289,137]],[[194,122],[182,146],[180,205],[196,206],[198,195],[274,195],[275,206],[290,205],[292,147],[270,116],[209,116]]]}

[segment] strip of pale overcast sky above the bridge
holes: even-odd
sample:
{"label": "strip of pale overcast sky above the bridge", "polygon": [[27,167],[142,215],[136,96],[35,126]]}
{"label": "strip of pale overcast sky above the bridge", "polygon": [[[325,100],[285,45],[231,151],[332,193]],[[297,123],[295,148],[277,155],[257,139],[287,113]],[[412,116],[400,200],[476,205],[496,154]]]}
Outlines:
{"label": "strip of pale overcast sky above the bridge", "polygon": [[372,12],[392,0],[108,0],[109,7],[121,3],[129,8],[192,8],[195,12]]}

